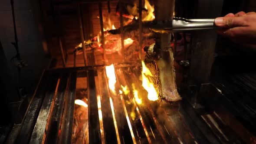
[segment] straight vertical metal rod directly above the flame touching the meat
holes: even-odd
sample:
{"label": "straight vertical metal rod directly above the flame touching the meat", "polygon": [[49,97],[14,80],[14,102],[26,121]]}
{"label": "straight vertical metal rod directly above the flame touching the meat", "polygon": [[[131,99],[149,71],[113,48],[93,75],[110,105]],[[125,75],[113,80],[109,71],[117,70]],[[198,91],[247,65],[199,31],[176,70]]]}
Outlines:
{"label": "straight vertical metal rod directly above the flame touching the meat", "polygon": [[139,0],[139,59],[142,55],[142,0]]}

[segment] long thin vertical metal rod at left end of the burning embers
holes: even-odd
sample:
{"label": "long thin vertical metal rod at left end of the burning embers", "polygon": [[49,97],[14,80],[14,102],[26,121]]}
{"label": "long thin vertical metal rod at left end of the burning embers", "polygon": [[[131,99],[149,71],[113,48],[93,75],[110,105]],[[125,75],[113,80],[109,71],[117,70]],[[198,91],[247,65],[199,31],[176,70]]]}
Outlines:
{"label": "long thin vertical metal rod at left end of the burning embers", "polygon": [[79,13],[79,26],[80,26],[80,35],[81,35],[81,43],[82,43],[82,48],[83,48],[83,56],[84,56],[84,63],[85,66],[88,65],[88,59],[87,59],[87,54],[85,51],[85,36],[84,36],[84,28],[83,28],[83,22],[82,22],[82,11],[81,11],[81,6],[78,6],[78,13]]}

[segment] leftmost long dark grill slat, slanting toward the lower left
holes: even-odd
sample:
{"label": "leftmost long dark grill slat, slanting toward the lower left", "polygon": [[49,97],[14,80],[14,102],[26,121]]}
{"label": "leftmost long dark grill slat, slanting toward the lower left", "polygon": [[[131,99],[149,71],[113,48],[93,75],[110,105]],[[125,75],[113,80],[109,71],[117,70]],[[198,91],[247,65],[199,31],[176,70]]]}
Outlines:
{"label": "leftmost long dark grill slat, slanting toward the lower left", "polygon": [[[44,74],[42,78],[42,82],[39,83],[38,90],[33,96],[30,106],[26,112],[26,116],[23,119],[21,124],[21,128],[19,131],[19,135],[16,138],[15,143],[17,144],[25,144],[28,143],[30,136],[32,134],[33,128],[36,123],[37,116],[39,114],[43,98],[46,95],[46,92],[50,90],[54,91],[56,86],[57,76],[56,75],[48,75]],[[52,89],[51,89],[52,88]]]}

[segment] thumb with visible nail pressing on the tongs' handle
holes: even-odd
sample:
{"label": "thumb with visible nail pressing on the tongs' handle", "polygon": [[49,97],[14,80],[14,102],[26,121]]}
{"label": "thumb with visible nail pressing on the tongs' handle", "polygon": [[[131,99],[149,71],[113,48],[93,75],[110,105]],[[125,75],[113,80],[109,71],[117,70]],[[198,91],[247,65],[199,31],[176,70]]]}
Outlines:
{"label": "thumb with visible nail pressing on the tongs' handle", "polygon": [[218,17],[214,21],[216,26],[220,27],[236,27],[236,26],[245,26],[245,20],[243,16],[240,17]]}

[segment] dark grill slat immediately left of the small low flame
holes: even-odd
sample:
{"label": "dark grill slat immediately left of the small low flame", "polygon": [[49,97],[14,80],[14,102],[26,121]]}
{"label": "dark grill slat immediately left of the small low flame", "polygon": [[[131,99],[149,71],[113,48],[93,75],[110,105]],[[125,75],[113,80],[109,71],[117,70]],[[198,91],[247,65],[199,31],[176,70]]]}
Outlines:
{"label": "dark grill slat immediately left of the small low flame", "polygon": [[70,144],[72,141],[73,115],[75,105],[76,72],[69,75],[69,90],[65,95],[64,111],[58,143]]}

